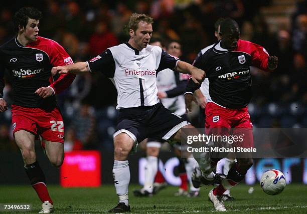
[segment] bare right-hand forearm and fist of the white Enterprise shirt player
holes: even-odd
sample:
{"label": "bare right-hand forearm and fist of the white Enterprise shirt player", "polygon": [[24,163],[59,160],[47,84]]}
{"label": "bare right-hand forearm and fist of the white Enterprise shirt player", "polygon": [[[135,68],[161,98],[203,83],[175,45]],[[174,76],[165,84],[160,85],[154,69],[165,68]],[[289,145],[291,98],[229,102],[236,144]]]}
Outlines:
{"label": "bare right-hand forearm and fist of the white Enterprise shirt player", "polygon": [[177,63],[176,70],[180,73],[190,74],[193,82],[197,84],[201,84],[206,77],[205,71],[183,61]]}

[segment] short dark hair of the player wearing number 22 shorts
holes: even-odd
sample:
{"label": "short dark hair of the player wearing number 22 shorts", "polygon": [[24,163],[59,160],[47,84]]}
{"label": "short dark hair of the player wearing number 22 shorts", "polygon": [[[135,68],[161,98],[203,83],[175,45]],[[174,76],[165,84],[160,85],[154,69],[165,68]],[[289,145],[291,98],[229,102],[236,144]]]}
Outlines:
{"label": "short dark hair of the player wearing number 22 shorts", "polygon": [[29,19],[40,20],[42,18],[42,12],[36,8],[21,8],[14,15],[14,24],[17,31],[19,26],[26,28]]}

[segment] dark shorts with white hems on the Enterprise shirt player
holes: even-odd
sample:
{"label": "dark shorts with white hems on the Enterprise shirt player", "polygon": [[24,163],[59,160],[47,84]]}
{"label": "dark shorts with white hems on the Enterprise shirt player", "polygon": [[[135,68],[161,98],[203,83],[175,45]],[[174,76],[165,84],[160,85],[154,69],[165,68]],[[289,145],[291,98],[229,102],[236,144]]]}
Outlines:
{"label": "dark shorts with white hems on the Enterprise shirt player", "polygon": [[162,103],[150,107],[124,108],[119,110],[113,137],[124,132],[134,142],[141,142],[148,137],[168,140],[188,124],[187,120],[166,109]]}

